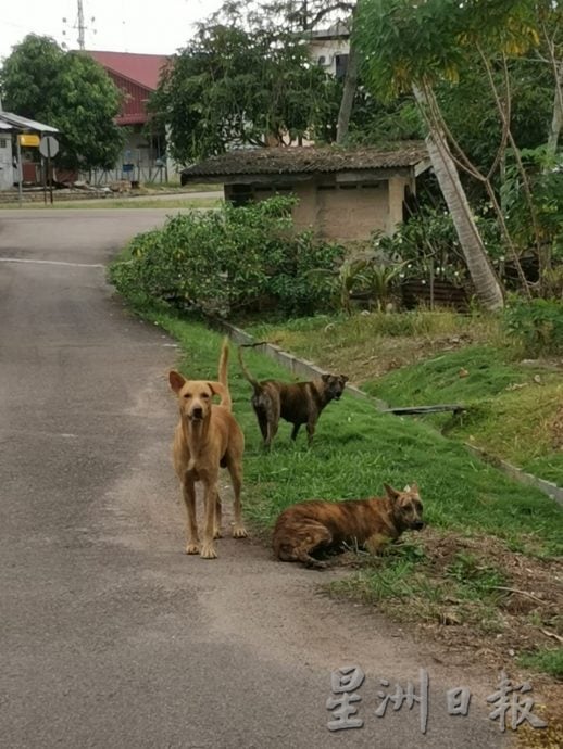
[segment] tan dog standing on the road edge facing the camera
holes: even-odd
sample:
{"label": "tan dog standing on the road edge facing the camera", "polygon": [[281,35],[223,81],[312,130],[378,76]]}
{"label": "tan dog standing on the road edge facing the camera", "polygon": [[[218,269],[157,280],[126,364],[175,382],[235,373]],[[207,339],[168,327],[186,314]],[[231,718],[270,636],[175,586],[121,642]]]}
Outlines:
{"label": "tan dog standing on the road edge facing the camera", "polygon": [[[214,538],[221,537],[221,499],[217,492],[220,468],[230,473],[235,494],[233,536],[247,535],[242,525],[240,488],[245,436],[230,412],[232,399],[227,382],[228,339],[223,341],[218,365],[218,382],[186,380],[173,370],[168,379],[178,396],[179,421],[174,433],[173,460],[187,510],[186,554],[200,554],[215,559]],[[214,395],[221,404],[212,404]],[[204,529],[200,543],[196,516],[196,482],[203,484]]]}

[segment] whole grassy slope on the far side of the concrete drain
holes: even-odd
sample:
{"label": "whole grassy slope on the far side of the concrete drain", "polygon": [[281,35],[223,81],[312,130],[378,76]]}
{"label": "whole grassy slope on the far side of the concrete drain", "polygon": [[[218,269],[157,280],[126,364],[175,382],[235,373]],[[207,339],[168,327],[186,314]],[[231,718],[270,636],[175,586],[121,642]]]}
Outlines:
{"label": "whole grassy slope on the far side of the concrete drain", "polygon": [[412,312],[318,316],[253,325],[328,370],[343,371],[393,406],[461,403],[460,417],[426,416],[451,439],[563,486],[563,378],[550,360],[522,361],[493,316]]}

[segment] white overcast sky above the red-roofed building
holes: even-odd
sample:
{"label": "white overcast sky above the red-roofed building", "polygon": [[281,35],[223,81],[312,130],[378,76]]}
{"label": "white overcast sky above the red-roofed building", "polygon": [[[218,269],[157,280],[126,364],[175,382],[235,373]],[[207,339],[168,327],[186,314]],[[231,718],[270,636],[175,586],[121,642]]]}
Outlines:
{"label": "white overcast sky above the red-roofed building", "polygon": [[[83,0],[86,49],[171,54],[184,47],[197,21],[221,0]],[[92,21],[93,17],[93,21]],[[66,21],[63,21],[66,18]],[[27,34],[53,37],[78,48],[77,0],[3,0],[0,13],[0,60]]]}

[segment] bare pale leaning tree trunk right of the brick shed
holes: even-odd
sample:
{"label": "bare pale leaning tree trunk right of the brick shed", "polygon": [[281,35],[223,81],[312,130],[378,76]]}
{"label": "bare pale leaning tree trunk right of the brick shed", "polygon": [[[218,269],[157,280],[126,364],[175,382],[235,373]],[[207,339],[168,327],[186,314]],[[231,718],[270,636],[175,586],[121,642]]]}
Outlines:
{"label": "bare pale leaning tree trunk right of the brick shed", "polygon": [[[428,107],[426,93],[416,86],[413,87],[413,91],[418,105],[423,109]],[[486,309],[501,309],[504,306],[502,290],[487,256],[450,149],[442,132],[434,128],[428,119],[427,123],[429,134],[426,147],[436,179],[450,210],[475,291]]]}

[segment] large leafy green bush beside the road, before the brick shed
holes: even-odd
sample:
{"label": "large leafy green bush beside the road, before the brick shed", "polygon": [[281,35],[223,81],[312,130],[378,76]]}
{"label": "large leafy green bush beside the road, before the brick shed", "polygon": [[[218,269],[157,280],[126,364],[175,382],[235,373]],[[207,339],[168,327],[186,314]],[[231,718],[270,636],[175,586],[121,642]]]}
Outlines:
{"label": "large leafy green bush beside the road, before the brick shed", "polygon": [[310,231],[296,232],[293,203],[272,198],[171,217],[163,229],[132,241],[132,259],[115,264],[111,280],[126,295],[218,315],[264,304],[287,315],[326,308],[331,285],[309,271],[334,268],[343,249],[316,241]]}

